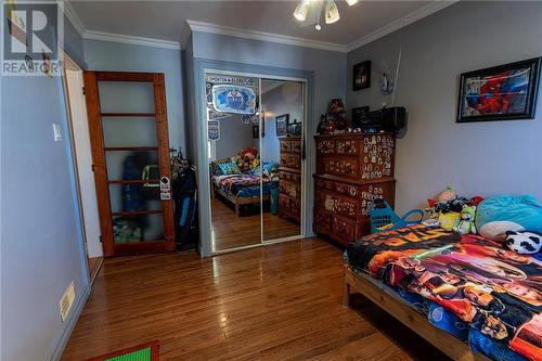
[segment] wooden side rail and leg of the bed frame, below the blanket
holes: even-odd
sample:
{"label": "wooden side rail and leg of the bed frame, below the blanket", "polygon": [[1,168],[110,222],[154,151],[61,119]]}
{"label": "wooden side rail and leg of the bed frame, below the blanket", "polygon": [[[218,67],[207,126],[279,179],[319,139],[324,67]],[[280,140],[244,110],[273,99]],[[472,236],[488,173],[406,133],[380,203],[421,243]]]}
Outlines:
{"label": "wooden side rail and leg of the bed frame, below the blanket", "polygon": [[473,352],[467,344],[431,325],[426,317],[404,304],[399,296],[392,292],[386,292],[375,283],[378,284],[379,281],[353,272],[348,265],[345,265],[343,306],[349,307],[350,292],[353,289],[401,321],[453,360],[490,361],[486,356]]}

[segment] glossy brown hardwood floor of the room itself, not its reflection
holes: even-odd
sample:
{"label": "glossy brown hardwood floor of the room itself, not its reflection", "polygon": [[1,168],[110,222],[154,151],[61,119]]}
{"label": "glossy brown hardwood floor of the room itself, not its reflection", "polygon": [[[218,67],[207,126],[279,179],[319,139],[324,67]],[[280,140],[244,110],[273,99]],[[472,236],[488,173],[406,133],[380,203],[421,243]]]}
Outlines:
{"label": "glossy brown hardwood floor of the room itself, not its reflection", "polygon": [[375,305],[340,305],[341,252],[302,240],[106,259],[62,360],[158,339],[166,360],[447,360]]}

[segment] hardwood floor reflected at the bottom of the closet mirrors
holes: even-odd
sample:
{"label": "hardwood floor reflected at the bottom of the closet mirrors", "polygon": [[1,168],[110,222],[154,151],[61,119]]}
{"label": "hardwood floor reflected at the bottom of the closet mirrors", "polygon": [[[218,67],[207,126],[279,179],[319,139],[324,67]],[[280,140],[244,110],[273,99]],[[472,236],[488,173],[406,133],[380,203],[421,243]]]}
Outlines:
{"label": "hardwood floor reflected at the bottom of the closet mirrors", "polygon": [[[235,216],[218,196],[212,205],[212,237],[216,250],[259,244],[261,242],[260,215]],[[287,219],[263,212],[263,238],[266,241],[300,234],[300,227]]]}

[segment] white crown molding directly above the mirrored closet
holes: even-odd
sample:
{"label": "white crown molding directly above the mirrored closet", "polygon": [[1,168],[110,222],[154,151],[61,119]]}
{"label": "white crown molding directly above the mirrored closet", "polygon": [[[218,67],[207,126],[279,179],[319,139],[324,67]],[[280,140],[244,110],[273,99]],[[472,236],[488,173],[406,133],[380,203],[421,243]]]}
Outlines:
{"label": "white crown molding directly above the mirrored closet", "polygon": [[346,46],[336,44],[336,43],[326,42],[326,41],[291,37],[287,35],[280,35],[280,34],[273,34],[273,33],[241,29],[241,28],[231,27],[231,26],[222,26],[222,25],[216,25],[216,24],[211,24],[211,23],[195,22],[195,21],[191,21],[191,20],[186,20],[186,23],[189,24],[191,31],[227,35],[227,36],[236,37],[236,38],[260,40],[260,41],[268,41],[268,42],[278,42],[278,43],[284,43],[284,44],[288,44],[288,46],[313,48],[313,49],[320,49],[320,50],[338,51],[338,52],[346,52],[347,51]]}

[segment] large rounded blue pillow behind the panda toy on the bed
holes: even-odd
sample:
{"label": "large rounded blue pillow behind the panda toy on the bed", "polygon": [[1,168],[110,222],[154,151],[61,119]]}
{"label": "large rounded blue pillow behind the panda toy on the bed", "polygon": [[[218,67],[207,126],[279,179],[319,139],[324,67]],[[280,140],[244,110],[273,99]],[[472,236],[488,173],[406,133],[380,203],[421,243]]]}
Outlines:
{"label": "large rounded blue pillow behind the panda toy on the bed", "polygon": [[542,232],[542,205],[531,195],[503,194],[487,198],[476,211],[478,232],[504,241],[507,231]]}

